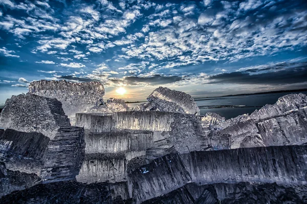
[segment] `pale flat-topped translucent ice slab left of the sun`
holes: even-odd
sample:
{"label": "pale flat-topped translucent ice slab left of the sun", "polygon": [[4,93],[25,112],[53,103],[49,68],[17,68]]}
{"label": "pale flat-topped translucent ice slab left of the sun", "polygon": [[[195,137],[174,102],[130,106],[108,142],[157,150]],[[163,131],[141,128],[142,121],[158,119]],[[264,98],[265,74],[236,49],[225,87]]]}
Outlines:
{"label": "pale flat-topped translucent ice slab left of the sun", "polygon": [[55,98],[62,102],[65,114],[75,124],[76,112],[86,112],[103,103],[104,87],[100,82],[71,83],[62,81],[33,81],[29,93]]}

